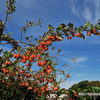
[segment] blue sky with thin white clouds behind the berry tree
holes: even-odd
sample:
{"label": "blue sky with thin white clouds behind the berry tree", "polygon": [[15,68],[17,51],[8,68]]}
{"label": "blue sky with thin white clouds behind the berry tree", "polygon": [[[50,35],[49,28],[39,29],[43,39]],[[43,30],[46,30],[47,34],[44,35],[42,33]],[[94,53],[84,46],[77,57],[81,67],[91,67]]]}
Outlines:
{"label": "blue sky with thin white clouds behind the berry tree", "polygon": [[[0,19],[5,20],[4,2],[0,1]],[[96,24],[100,18],[100,0],[16,0],[16,12],[9,23],[8,31],[13,33],[13,38],[20,39],[20,29],[26,24],[26,20],[37,22],[41,19],[42,28],[36,26],[26,33],[34,37],[43,35],[49,24],[55,28],[61,23],[72,22],[74,26],[90,21]],[[24,40],[24,39],[23,39]],[[73,68],[68,71],[71,78],[67,79],[61,87],[66,89],[82,80],[100,81],[100,36],[86,36],[86,40],[73,38],[64,39],[63,42],[54,43],[56,48],[62,49],[59,65],[71,64],[71,58],[77,56]],[[9,45],[0,48],[9,49]]]}

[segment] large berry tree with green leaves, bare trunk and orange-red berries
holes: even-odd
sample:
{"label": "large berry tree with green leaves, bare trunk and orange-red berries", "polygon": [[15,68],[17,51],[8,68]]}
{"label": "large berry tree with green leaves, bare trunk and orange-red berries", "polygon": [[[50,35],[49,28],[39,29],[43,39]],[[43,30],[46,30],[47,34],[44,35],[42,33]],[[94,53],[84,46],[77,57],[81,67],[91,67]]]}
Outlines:
{"label": "large berry tree with green leaves, bare trunk and orange-red berries", "polygon": [[[52,47],[53,42],[63,41],[65,37],[68,40],[73,37],[85,39],[84,31],[87,32],[88,36],[92,34],[100,35],[100,24],[97,23],[93,26],[93,24],[87,22],[84,26],[74,28],[72,23],[69,23],[68,26],[62,23],[56,29],[52,25],[48,25],[48,31],[35,39],[37,44],[34,44],[31,41],[33,36],[26,36],[27,42],[23,42],[22,34],[30,27],[36,25],[41,27],[41,22],[40,19],[37,23],[27,21],[26,25],[21,28],[20,41],[17,41],[11,37],[12,33],[8,32],[6,28],[6,23],[11,20],[10,15],[16,11],[15,0],[6,0],[5,7],[7,9],[5,11],[6,20],[5,22],[0,20],[0,41],[7,42],[0,44],[12,44],[13,47],[10,51],[0,49],[0,99],[44,100],[49,95],[49,90],[56,93],[60,91],[61,93],[59,84],[70,77],[66,71],[72,67],[64,64],[63,67],[66,68],[64,71],[56,68],[57,56],[61,50],[58,49],[56,55],[51,56],[50,47]],[[6,34],[3,33],[4,30]],[[24,44],[24,46],[20,46],[19,43]],[[52,50],[55,50],[54,46]],[[75,62],[76,58],[72,60]],[[34,66],[34,63],[37,65]],[[32,70],[32,67],[34,67],[34,70]],[[37,67],[36,70],[35,67]],[[57,75],[63,75],[64,78],[57,81]],[[82,89],[87,87],[87,84],[84,87],[83,83],[80,83]]]}

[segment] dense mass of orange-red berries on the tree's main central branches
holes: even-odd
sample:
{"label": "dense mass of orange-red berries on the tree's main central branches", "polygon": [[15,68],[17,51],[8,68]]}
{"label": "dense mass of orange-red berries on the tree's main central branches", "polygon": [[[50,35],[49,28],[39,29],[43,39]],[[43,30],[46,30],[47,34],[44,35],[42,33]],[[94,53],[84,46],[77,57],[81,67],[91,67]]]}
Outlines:
{"label": "dense mass of orange-red berries on the tree's main central branches", "polygon": [[[35,80],[34,82],[36,84],[38,83],[42,83],[42,82],[46,82],[45,85],[41,86],[40,88],[35,88],[33,87],[33,83],[28,83],[28,82],[22,82],[22,76],[28,78],[28,80],[30,80],[30,77],[32,76],[31,73],[27,73],[24,70],[21,70],[20,68],[16,68],[16,71],[18,71],[17,73],[14,72],[13,70],[9,72],[9,70],[2,68],[3,73],[7,74],[10,73],[9,75],[13,75],[14,77],[16,77],[17,80],[20,80],[19,83],[19,87],[25,86],[28,87],[29,89],[33,89],[33,92],[37,92],[38,91],[38,95],[40,96],[41,93],[46,94],[47,91],[49,91],[49,83],[53,82],[53,79],[51,77],[46,76],[46,74],[50,74],[52,72],[52,65],[48,64],[48,62],[46,60],[42,59],[42,55],[44,53],[44,51],[48,50],[49,45],[51,45],[52,42],[55,41],[62,41],[62,38],[59,38],[58,36],[54,35],[50,35],[47,37],[46,40],[42,41],[36,48],[35,50],[31,51],[28,50],[28,52],[24,55],[21,55],[20,53],[14,54],[14,58],[21,58],[21,62],[22,63],[26,63],[27,60],[30,62],[29,64],[25,64],[26,67],[28,66],[32,66],[31,62],[36,62],[37,61],[37,65],[38,66],[42,66],[43,70],[36,74]],[[41,53],[40,53],[41,51]],[[6,61],[6,64],[11,64],[11,62]],[[11,74],[12,73],[12,74]],[[45,76],[44,76],[45,75]],[[9,86],[11,84],[8,84]],[[57,87],[53,87],[51,86],[51,89],[53,89],[54,91],[57,90]]]}

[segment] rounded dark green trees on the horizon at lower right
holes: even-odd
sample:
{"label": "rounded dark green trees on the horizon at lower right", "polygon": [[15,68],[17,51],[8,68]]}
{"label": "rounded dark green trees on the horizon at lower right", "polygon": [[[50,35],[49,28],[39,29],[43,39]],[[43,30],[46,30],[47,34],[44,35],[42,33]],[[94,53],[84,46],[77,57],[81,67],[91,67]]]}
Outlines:
{"label": "rounded dark green trees on the horizon at lower right", "polygon": [[[68,89],[69,97],[75,100],[93,100],[93,96],[81,96],[79,93],[100,93],[100,88],[97,85],[100,81],[88,81],[84,80],[77,84],[74,84]],[[98,96],[99,98],[99,96]]]}

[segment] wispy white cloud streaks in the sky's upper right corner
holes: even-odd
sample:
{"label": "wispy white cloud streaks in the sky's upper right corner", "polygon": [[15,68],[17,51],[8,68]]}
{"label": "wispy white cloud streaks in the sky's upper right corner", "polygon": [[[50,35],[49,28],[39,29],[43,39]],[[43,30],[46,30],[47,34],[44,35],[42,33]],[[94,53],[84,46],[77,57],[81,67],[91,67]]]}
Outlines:
{"label": "wispy white cloud streaks in the sky's upper right corner", "polygon": [[84,0],[82,4],[79,0],[71,0],[72,13],[81,19],[97,23],[100,19],[100,0]]}

